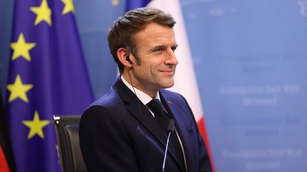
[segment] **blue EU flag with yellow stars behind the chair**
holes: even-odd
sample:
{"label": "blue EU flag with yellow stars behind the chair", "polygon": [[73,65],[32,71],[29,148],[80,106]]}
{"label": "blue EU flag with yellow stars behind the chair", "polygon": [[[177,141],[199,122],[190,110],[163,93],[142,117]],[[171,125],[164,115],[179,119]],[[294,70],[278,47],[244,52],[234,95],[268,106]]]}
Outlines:
{"label": "blue EU flag with yellow stars behind the chair", "polygon": [[14,1],[7,83],[17,171],[60,171],[53,115],[93,101],[72,0]]}

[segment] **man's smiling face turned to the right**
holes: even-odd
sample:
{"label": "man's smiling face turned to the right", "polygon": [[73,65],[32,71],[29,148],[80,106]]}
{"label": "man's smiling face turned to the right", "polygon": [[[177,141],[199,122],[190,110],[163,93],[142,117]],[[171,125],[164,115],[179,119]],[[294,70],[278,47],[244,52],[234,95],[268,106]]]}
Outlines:
{"label": "man's smiling face turned to the right", "polygon": [[134,35],[139,63],[134,60],[131,81],[145,93],[173,86],[178,61],[174,54],[177,43],[173,28],[150,23]]}

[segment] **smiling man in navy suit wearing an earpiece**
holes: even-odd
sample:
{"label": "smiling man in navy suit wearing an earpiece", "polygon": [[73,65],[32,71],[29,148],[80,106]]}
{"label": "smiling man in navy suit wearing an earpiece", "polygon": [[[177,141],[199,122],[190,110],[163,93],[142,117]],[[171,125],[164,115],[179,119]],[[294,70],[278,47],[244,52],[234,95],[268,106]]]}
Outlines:
{"label": "smiling man in navy suit wearing an earpiece", "polygon": [[178,61],[176,21],[156,8],[138,8],[109,30],[121,76],[80,121],[80,147],[89,171],[162,171],[168,123],[175,130],[165,171],[211,171],[193,113],[173,86]]}

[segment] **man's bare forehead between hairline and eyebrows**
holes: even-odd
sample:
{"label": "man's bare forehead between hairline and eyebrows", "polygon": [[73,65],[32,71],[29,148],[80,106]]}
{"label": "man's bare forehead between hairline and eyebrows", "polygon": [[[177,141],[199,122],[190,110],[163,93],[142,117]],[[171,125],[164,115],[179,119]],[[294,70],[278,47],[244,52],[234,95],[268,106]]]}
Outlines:
{"label": "man's bare forehead between hairline and eyebrows", "polygon": [[155,45],[175,45],[176,38],[173,28],[150,23],[146,27],[134,35],[136,46],[155,46]]}

